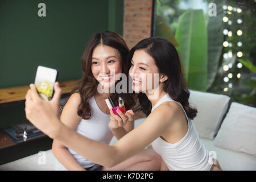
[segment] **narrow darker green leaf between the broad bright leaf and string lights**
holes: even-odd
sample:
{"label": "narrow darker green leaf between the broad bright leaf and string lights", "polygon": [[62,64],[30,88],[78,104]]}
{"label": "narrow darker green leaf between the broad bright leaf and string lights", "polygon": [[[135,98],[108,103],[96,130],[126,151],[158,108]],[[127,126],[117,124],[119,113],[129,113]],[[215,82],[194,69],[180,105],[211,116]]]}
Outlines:
{"label": "narrow darker green leaf between the broad bright leaf and string lights", "polygon": [[212,1],[217,5],[217,16],[209,16],[208,15],[208,25],[207,25],[207,33],[208,33],[208,74],[207,74],[207,89],[212,86],[213,81],[216,77],[218,62],[220,61],[221,52],[223,48],[224,41],[224,24],[222,21],[222,17],[224,16],[224,11],[222,6],[225,1],[216,0]]}

